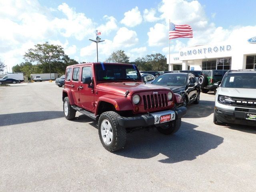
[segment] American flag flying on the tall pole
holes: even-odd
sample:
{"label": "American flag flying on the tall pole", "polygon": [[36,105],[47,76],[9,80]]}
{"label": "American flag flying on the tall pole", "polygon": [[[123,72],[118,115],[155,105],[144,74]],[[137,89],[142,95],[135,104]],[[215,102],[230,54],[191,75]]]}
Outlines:
{"label": "American flag flying on the tall pole", "polygon": [[174,38],[192,38],[193,37],[193,31],[190,25],[175,25],[172,22],[170,22],[169,26],[169,39]]}

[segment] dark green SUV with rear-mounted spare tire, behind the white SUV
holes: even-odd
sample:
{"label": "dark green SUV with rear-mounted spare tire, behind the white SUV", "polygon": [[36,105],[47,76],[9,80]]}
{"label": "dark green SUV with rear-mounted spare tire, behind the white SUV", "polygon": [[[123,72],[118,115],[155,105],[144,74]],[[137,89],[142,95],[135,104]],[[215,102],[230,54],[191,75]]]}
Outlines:
{"label": "dark green SUV with rear-mounted spare tire, behind the white SUV", "polygon": [[217,86],[214,83],[221,82],[224,74],[228,70],[202,70],[201,75],[198,77],[198,83],[203,93],[213,91],[216,93]]}

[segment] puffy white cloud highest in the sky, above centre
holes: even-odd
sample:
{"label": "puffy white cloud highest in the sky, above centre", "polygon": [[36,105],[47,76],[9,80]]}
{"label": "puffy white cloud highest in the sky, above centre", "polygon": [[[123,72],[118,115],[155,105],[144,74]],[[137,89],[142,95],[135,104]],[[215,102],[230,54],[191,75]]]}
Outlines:
{"label": "puffy white cloud highest in the sky, above centre", "polygon": [[121,20],[121,23],[128,27],[135,27],[142,22],[142,16],[138,7],[133,8],[132,10],[124,13],[124,18]]}

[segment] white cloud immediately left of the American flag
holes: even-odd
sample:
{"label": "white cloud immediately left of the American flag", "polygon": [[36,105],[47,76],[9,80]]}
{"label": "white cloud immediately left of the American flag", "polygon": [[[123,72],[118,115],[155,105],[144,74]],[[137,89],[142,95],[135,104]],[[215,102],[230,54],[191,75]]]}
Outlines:
{"label": "white cloud immediately left of the American flag", "polygon": [[163,46],[168,43],[168,29],[164,24],[157,23],[148,32],[148,46]]}

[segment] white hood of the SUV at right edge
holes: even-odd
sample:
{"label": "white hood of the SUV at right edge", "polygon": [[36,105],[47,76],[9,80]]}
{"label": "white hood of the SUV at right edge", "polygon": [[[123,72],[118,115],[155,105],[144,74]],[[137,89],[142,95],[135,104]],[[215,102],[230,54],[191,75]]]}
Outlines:
{"label": "white hood of the SUV at right edge", "polygon": [[218,94],[230,97],[256,98],[256,89],[219,87]]}

